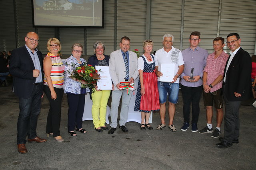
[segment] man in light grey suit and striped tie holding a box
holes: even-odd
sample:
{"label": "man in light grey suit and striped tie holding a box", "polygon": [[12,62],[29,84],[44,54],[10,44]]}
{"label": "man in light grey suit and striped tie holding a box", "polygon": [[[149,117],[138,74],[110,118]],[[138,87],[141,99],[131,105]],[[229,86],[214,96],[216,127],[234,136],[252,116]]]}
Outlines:
{"label": "man in light grey suit and striped tie holding a box", "polygon": [[110,109],[111,116],[111,128],[108,133],[113,134],[117,127],[118,106],[120,98],[122,96],[122,107],[120,112],[119,128],[123,132],[127,132],[128,129],[125,123],[128,118],[129,103],[132,97],[132,93],[127,94],[126,90],[120,90],[120,82],[134,83],[134,80],[139,75],[137,69],[137,55],[136,53],[129,51],[130,39],[128,37],[122,37],[120,40],[120,49],[112,52],[109,59],[109,72],[114,83],[114,90],[112,91],[112,102]]}

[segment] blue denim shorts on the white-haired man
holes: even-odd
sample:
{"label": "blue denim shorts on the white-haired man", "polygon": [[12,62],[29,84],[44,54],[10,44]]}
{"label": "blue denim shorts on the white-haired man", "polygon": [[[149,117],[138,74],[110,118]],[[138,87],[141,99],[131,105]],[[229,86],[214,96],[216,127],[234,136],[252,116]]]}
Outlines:
{"label": "blue denim shorts on the white-haired man", "polygon": [[170,83],[170,82],[157,82],[158,93],[159,93],[159,102],[163,104],[166,102],[167,94],[169,94],[168,101],[176,104],[178,103],[178,95],[180,85],[178,83]]}

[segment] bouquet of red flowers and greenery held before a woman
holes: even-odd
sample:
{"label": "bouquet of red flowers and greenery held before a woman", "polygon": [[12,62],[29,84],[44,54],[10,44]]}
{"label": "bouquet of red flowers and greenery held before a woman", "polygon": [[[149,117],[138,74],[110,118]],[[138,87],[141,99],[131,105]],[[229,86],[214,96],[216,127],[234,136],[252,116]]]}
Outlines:
{"label": "bouquet of red flowers and greenery held before a woman", "polygon": [[76,69],[72,72],[71,78],[74,78],[76,80],[80,80],[81,82],[81,88],[94,88],[94,85],[100,79],[100,75],[98,74],[98,71],[96,70],[92,65],[84,65],[76,67]]}

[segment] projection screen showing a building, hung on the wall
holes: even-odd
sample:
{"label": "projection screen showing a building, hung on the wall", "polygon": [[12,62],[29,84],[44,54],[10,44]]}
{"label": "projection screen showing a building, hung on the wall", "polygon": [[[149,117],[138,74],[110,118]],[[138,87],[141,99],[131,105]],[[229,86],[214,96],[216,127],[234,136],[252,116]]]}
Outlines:
{"label": "projection screen showing a building, hung on the wall", "polygon": [[32,0],[38,27],[104,27],[104,0]]}

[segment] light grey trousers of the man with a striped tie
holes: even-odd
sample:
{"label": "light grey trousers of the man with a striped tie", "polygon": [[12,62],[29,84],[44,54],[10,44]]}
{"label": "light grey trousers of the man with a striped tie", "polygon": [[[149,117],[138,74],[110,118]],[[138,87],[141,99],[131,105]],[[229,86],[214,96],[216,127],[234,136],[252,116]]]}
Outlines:
{"label": "light grey trousers of the man with a striped tie", "polygon": [[118,106],[120,103],[120,98],[122,96],[122,106],[120,112],[120,121],[119,125],[125,125],[128,119],[128,110],[129,110],[129,103],[132,97],[132,91],[130,94],[127,94],[127,90],[113,90],[112,91],[112,102],[110,108],[110,117],[111,123],[110,126],[116,128],[117,127],[117,117],[118,117]]}

